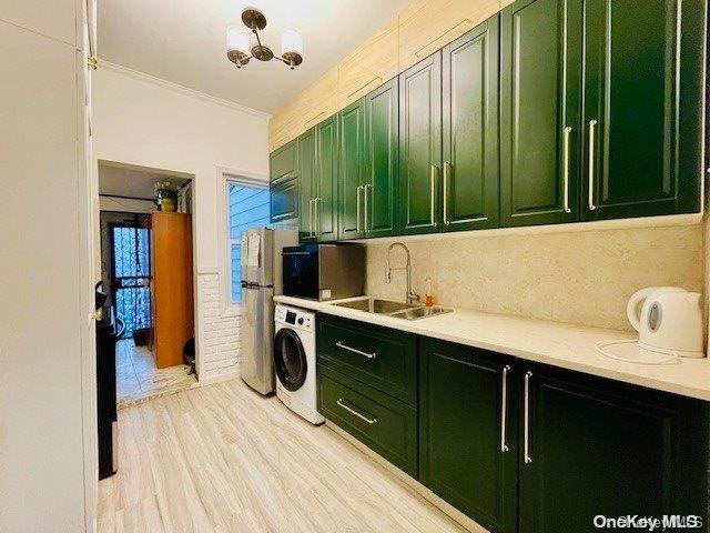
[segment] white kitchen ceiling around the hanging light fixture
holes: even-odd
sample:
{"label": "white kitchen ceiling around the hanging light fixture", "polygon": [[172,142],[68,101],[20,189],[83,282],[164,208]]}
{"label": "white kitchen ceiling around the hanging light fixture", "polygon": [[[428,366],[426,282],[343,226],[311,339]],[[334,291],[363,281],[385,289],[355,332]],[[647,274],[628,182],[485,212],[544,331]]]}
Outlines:
{"label": "white kitchen ceiling around the hanging light fixture", "polygon": [[[317,80],[390,21],[409,0],[99,0],[99,57],[268,113]],[[266,16],[265,39],[281,53],[281,30],[296,27],[304,61],[252,60],[237,70],[225,32],[244,4]]]}

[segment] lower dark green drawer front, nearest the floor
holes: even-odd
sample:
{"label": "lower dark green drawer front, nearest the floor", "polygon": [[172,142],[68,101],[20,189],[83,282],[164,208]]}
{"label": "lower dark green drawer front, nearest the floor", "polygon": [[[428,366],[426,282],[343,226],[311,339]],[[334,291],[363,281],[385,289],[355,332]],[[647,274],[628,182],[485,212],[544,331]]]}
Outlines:
{"label": "lower dark green drawer front, nearest the floor", "polygon": [[318,412],[416,477],[416,410],[325,366],[318,374]]}

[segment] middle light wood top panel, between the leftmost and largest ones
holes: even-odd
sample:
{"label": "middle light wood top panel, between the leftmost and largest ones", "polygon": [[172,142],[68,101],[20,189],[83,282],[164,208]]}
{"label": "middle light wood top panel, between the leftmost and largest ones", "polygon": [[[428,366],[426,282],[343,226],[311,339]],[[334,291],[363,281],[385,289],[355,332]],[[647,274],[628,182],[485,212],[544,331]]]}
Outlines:
{"label": "middle light wood top panel, between the leftmost and largest ones", "polygon": [[398,22],[394,20],[341,62],[338,109],[397,76],[398,36]]}

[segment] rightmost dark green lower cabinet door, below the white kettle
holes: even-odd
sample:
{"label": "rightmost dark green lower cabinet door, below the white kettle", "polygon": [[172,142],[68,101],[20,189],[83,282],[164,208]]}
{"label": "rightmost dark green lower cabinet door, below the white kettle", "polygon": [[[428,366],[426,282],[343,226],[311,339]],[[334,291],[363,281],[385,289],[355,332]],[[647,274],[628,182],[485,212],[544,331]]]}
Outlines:
{"label": "rightmost dark green lower cabinet door, below the white kettle", "polygon": [[598,531],[598,515],[707,524],[704,403],[547,366],[521,379],[520,533]]}

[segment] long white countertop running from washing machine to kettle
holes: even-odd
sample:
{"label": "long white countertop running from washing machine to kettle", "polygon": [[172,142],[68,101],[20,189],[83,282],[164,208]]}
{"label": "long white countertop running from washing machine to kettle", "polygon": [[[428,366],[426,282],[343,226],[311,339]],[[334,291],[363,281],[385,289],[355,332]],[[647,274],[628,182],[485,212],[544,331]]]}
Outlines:
{"label": "long white countertop running from washing machine to kettle", "polygon": [[339,308],[333,304],[335,302],[291,296],[274,296],[274,301],[710,401],[708,359],[681,359],[678,364],[648,365],[615,361],[595,349],[598,342],[635,339],[633,334],[625,331],[459,309],[453,313],[408,321]]}

